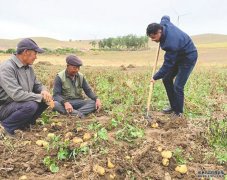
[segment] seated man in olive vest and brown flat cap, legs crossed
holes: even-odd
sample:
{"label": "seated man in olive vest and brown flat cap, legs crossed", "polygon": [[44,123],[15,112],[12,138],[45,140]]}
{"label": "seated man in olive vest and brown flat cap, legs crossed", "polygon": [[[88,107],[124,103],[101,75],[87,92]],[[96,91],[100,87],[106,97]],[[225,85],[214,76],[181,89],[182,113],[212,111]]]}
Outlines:
{"label": "seated man in olive vest and brown flat cap, legs crossed", "polygon": [[[59,72],[54,82],[54,110],[61,114],[71,114],[84,118],[95,110],[101,108],[101,101],[93,93],[83,74],[79,72],[82,61],[69,55],[66,58],[67,67]],[[90,98],[84,100],[82,91]]]}

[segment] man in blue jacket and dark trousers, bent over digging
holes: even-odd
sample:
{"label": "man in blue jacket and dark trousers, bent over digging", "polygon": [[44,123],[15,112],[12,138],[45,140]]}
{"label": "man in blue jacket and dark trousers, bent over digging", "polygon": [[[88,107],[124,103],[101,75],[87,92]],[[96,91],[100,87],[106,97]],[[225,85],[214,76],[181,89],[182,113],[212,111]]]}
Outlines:
{"label": "man in blue jacket and dark trousers, bent over digging", "polygon": [[161,49],[165,51],[164,63],[151,79],[152,82],[163,80],[170,102],[170,107],[163,109],[163,112],[181,116],[184,86],[196,64],[197,49],[191,38],[170,22],[169,16],[163,16],[160,24],[149,24],[147,36],[152,41],[160,42]]}

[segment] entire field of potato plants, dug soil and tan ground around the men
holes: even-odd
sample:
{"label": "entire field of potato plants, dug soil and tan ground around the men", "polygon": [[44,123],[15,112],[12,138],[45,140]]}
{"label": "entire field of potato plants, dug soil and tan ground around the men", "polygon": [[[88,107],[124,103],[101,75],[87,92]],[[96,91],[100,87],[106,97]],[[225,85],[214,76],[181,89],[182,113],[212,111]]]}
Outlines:
{"label": "entire field of potato plants, dug soil and tan ground around the men", "polygon": [[[84,120],[47,110],[19,139],[0,140],[0,179],[194,180],[202,172],[226,173],[226,56],[217,55],[222,48],[201,47],[200,52],[185,89],[185,119],[160,112],[168,100],[162,82],[155,83],[150,115],[158,127],[144,119],[155,48],[81,54],[81,72],[103,109]],[[65,68],[65,57],[40,55],[34,65],[50,91],[57,72]],[[37,140],[45,143],[38,146]],[[172,152],[167,166],[164,150]],[[186,174],[175,171],[182,164]]]}

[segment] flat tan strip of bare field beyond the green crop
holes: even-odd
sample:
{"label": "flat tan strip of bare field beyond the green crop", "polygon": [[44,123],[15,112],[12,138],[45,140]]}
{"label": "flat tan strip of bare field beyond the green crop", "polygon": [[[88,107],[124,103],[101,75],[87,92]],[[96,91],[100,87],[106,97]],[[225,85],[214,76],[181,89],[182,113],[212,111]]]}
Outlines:
{"label": "flat tan strip of bare field beyond the green crop", "polygon": [[[153,65],[156,49],[147,51],[86,51],[79,57],[85,66],[151,66]],[[222,66],[227,65],[226,48],[199,48],[199,66]],[[159,56],[159,65],[163,62],[164,52]],[[10,54],[0,54],[0,62],[8,59]],[[39,61],[48,61],[54,65],[65,65],[67,55],[38,55]]]}

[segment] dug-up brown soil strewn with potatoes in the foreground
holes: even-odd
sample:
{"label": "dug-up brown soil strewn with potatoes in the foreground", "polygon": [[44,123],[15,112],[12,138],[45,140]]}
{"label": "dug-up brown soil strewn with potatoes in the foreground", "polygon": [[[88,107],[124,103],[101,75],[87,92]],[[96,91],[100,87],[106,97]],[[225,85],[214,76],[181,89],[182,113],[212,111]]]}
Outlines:
{"label": "dug-up brown soil strewn with potatoes in the foreground", "polygon": [[[115,179],[133,179],[134,177],[154,180],[194,180],[198,179],[198,171],[223,170],[226,172],[227,170],[227,166],[218,165],[213,157],[208,158],[210,149],[203,136],[203,128],[193,125],[187,119],[170,119],[167,115],[154,113],[153,121],[156,121],[159,127],[151,128],[147,123],[140,123],[145,130],[145,136],[142,139],[134,143],[116,141],[117,130],[112,129],[108,131],[107,142],[101,142],[97,146],[89,141],[89,154],[79,155],[74,160],[60,161],[59,172],[53,174],[43,165],[43,158],[50,154],[56,155],[56,152],[48,154],[43,147],[36,145],[36,140],[45,139],[49,132],[62,136],[66,132],[73,132],[73,136],[77,137],[83,137],[85,132],[93,134],[94,132],[88,130],[88,125],[98,121],[108,129],[109,118],[100,115],[79,120],[74,117],[58,116],[52,121],[62,122],[62,126],[37,124],[17,134],[17,139],[6,137],[0,140],[0,179],[19,179],[22,175],[26,175],[27,179],[110,179],[110,174],[115,174]],[[76,131],[78,126],[83,127],[81,132]],[[44,127],[48,129],[45,132]],[[100,147],[108,148],[108,153],[102,154]],[[158,147],[172,152],[177,147],[183,149],[188,173],[183,175],[175,171],[177,166],[175,158],[170,159],[168,167],[163,166]],[[115,164],[113,169],[107,168],[107,158]],[[105,168],[104,176],[93,172],[95,164]]]}

